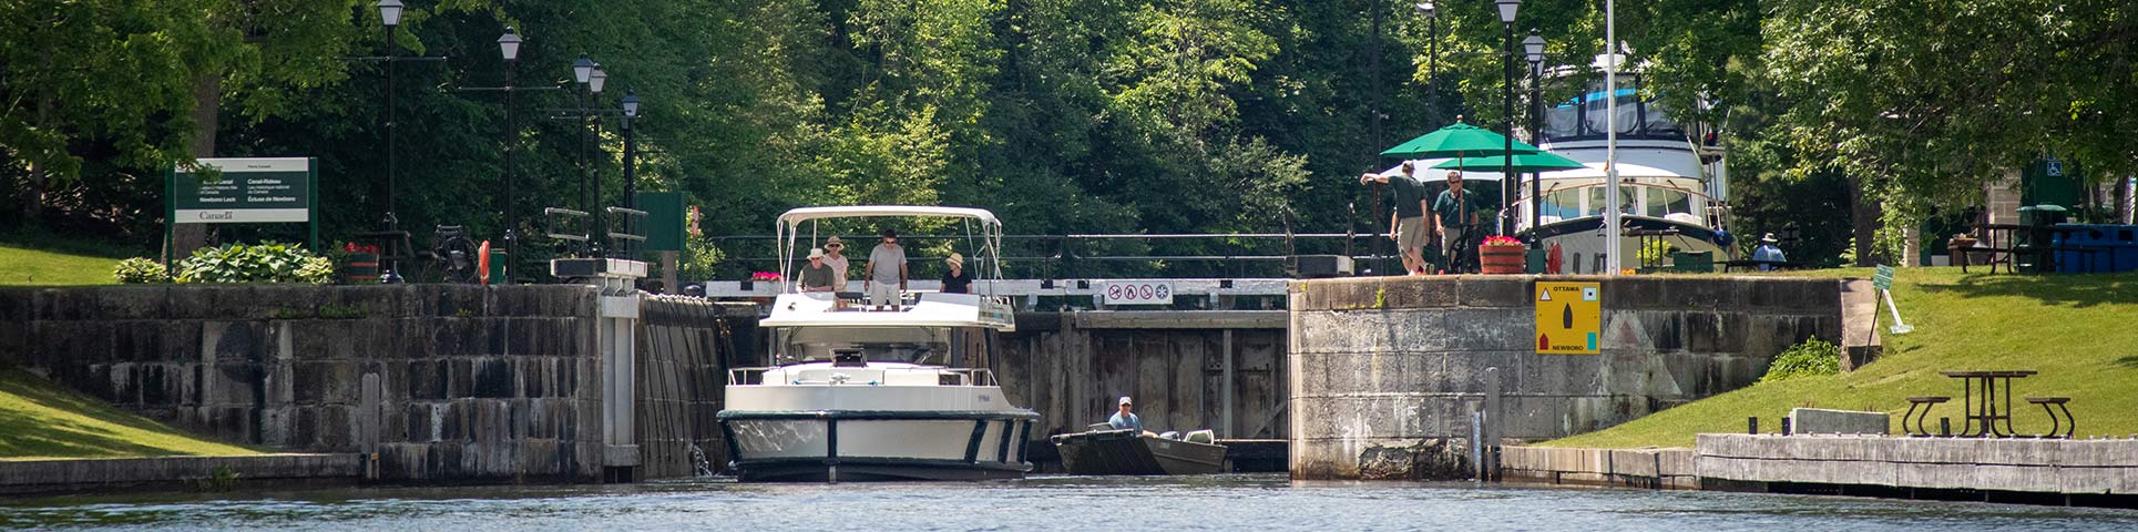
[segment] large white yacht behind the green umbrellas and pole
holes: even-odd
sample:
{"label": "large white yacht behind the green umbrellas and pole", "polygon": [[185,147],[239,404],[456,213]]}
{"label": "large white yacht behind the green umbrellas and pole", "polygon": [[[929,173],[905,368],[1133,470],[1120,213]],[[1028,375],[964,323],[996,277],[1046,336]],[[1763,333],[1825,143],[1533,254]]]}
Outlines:
{"label": "large white yacht behind the green umbrellas and pole", "polygon": [[[1604,58],[1593,68],[1601,71]],[[1571,79],[1571,77],[1561,77]],[[1614,267],[1668,265],[1668,256],[1651,252],[1642,263],[1642,246],[1668,244],[1687,252],[1710,252],[1715,261],[1730,256],[1730,237],[1717,231],[1730,222],[1730,175],[1717,135],[1698,124],[1685,124],[1674,109],[1640,96],[1640,73],[1621,75],[1621,85],[1606,96],[1595,81],[1580,96],[1546,107],[1537,147],[1582,162],[1584,169],[1539,173],[1544,212],[1531,226],[1529,182],[1524,177],[1516,229],[1556,244],[1567,273],[1599,273],[1604,254],[1606,194],[1606,130],[1608,103],[1618,100],[1618,207],[1621,254]]]}

